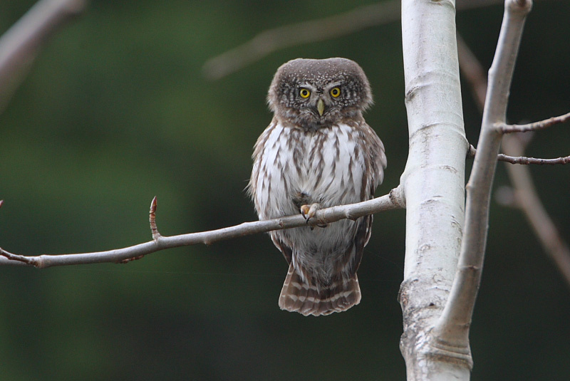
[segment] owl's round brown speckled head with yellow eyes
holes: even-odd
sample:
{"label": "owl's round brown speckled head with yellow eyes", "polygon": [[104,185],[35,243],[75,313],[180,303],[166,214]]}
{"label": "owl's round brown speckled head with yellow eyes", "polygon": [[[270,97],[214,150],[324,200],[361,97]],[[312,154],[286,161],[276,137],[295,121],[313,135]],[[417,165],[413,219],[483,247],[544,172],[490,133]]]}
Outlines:
{"label": "owl's round brown speckled head with yellow eyes", "polygon": [[361,115],[372,104],[372,93],[354,61],[297,58],[277,70],[267,100],[279,117],[316,130]]}

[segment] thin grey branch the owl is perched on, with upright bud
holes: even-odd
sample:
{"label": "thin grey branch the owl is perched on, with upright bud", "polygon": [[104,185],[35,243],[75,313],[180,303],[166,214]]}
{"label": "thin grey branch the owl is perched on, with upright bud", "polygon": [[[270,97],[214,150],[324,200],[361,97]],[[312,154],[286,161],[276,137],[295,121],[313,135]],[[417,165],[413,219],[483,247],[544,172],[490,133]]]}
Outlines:
{"label": "thin grey branch the owl is perched on, with upright bud", "polygon": [[30,265],[38,268],[51,266],[68,266],[87,263],[125,263],[132,259],[155,253],[163,249],[172,247],[189,246],[195,244],[213,244],[217,241],[233,239],[249,234],[264,233],[266,231],[290,229],[299,226],[314,226],[328,224],[341,219],[357,219],[368,214],[384,212],[392,209],[404,207],[403,194],[400,187],[390,191],[390,194],[371,199],[357,204],[348,204],[338,207],[321,209],[316,216],[307,222],[301,214],[296,216],[286,216],[279,219],[269,219],[264,221],[244,222],[237,226],[230,226],[212,231],[202,231],[200,233],[180,234],[178,236],[161,236],[156,229],[155,212],[156,198],[152,200],[150,207],[150,226],[152,231],[152,241],[115,249],[109,251],[98,251],[82,254],[61,254],[41,256],[21,256],[12,254],[0,248],[0,265]]}

